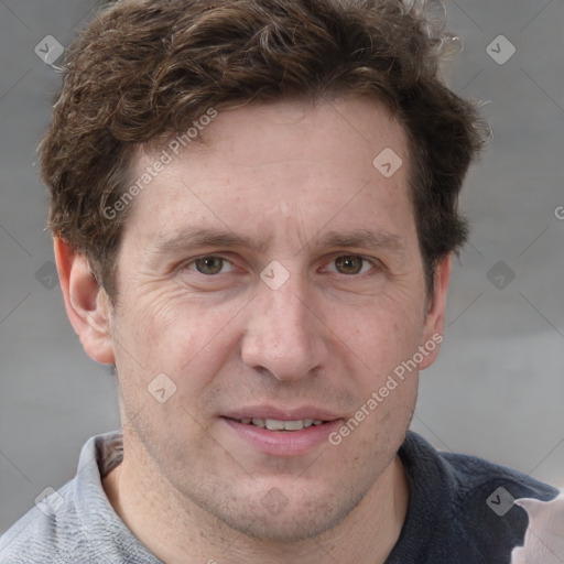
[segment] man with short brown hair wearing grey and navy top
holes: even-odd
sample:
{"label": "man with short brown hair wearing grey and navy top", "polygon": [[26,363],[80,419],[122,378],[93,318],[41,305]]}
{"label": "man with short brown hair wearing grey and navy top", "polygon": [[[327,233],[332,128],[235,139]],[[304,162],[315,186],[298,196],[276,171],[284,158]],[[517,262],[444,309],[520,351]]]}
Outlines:
{"label": "man with short brown hair wearing grey and navy top", "polygon": [[553,557],[556,489],[408,431],[486,131],[441,45],[397,0],[126,0],[80,34],[42,172],[122,425],[1,562]]}

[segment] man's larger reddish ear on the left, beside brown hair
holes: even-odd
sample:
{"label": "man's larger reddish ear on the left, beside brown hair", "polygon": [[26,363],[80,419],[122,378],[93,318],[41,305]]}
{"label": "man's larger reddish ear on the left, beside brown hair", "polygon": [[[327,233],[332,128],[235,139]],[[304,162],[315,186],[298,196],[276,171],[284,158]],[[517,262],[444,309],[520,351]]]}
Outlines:
{"label": "man's larger reddish ear on the left, beside brown hair", "polygon": [[111,304],[94,276],[85,254],[77,253],[63,239],[55,239],[55,260],[65,308],[87,355],[94,360],[115,364],[109,333]]}

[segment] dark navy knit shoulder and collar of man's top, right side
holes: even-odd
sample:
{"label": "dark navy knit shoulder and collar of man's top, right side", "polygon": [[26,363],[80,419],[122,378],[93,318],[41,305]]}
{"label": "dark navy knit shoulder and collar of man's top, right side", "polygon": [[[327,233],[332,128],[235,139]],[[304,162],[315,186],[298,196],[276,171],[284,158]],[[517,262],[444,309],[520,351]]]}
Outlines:
{"label": "dark navy knit shoulder and collar of man's top, right side", "polygon": [[427,554],[457,555],[468,563],[509,563],[529,527],[520,500],[549,502],[558,496],[556,488],[512,468],[438,452],[412,432],[400,456],[411,488],[410,532],[420,535],[419,543],[422,534],[427,538]]}

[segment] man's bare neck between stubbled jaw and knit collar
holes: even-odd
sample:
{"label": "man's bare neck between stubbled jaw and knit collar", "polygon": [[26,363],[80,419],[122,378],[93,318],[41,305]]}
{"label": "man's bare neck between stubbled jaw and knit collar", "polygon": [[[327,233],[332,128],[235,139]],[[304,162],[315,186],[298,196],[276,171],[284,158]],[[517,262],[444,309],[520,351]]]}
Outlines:
{"label": "man's bare neck between stubbled jaw and knit collar", "polygon": [[[123,462],[104,479],[113,509],[158,558],[166,564],[380,564],[400,536],[409,505],[405,471],[398,456],[360,503],[336,528],[292,544],[253,539],[232,530],[185,498],[154,471],[149,455]],[[227,552],[228,551],[228,552]]]}

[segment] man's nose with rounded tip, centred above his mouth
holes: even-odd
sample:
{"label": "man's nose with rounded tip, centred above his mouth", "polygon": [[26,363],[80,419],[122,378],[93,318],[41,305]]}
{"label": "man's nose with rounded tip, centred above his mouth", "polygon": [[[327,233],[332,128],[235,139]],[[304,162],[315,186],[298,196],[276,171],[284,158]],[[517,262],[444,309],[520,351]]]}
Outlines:
{"label": "man's nose with rounded tip, centred above his mouth", "polygon": [[242,361],[279,380],[300,380],[327,362],[327,327],[292,278],[280,289],[263,285],[250,307]]}

